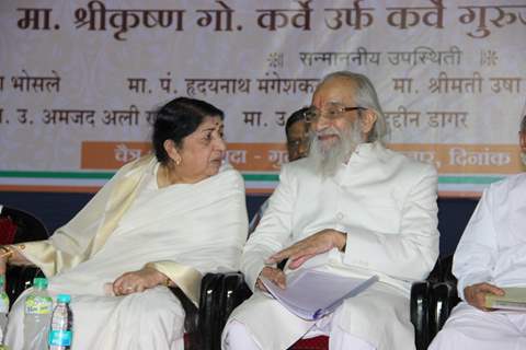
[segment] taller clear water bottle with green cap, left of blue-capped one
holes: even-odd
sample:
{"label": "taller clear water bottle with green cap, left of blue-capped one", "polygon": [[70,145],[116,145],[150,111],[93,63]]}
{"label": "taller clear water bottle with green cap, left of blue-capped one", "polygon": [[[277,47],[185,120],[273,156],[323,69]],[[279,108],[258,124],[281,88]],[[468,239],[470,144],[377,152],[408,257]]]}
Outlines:
{"label": "taller clear water bottle with green cap, left of blue-capped one", "polygon": [[33,292],[25,298],[24,349],[47,350],[47,329],[53,299],[47,293],[47,279],[33,279]]}

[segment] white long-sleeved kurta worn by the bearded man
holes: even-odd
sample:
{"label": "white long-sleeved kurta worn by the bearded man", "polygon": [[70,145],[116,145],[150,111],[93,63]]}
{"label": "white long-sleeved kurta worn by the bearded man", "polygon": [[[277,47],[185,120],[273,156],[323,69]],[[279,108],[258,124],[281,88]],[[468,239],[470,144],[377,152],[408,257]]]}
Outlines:
{"label": "white long-sleeved kurta worn by the bearded man", "polygon": [[[331,250],[320,269],[380,282],[341,306],[338,325],[377,349],[414,348],[409,316],[412,281],[424,279],[438,255],[437,175],[433,166],[361,144],[334,178],[322,179],[310,159],[286,164],[268,209],[249,238],[242,271],[254,290],[264,260],[323,229],[347,232],[345,254]],[[320,264],[320,261],[318,261]],[[230,317],[261,349],[286,349],[313,323],[255,292]]]}

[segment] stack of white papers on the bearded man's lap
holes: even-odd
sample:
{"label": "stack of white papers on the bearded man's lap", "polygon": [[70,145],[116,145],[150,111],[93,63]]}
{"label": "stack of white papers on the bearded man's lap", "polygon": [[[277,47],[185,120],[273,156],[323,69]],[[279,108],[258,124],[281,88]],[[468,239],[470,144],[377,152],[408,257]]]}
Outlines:
{"label": "stack of white papers on the bearded man's lap", "polygon": [[287,310],[304,319],[315,320],[334,312],[345,299],[369,288],[378,281],[378,276],[359,279],[302,269],[287,273],[285,290],[265,278],[262,281]]}

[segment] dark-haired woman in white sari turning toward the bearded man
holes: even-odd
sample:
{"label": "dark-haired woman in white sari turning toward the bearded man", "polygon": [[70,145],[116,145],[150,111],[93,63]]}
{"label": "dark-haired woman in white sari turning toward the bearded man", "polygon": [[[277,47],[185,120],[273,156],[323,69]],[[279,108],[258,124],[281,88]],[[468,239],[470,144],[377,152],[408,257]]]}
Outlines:
{"label": "dark-haired woman in white sari turning toward the bearded man", "polygon": [[[241,175],[222,164],[224,113],[179,97],[157,112],[155,155],[124,165],[47,241],[2,246],[5,264],[34,265],[49,292],[72,294],[75,349],[183,349],[184,311],[206,272],[239,270],[248,218]],[[5,343],[23,345],[23,293]]]}

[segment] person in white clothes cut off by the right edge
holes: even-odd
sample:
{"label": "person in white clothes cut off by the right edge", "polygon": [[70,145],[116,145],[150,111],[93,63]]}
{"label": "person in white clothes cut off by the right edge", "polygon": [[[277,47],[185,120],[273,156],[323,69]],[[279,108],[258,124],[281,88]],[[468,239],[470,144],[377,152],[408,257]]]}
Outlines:
{"label": "person in white clothes cut off by the right edge", "polygon": [[[525,154],[526,115],[519,139]],[[484,306],[487,295],[504,295],[504,287],[526,287],[526,173],[484,190],[458,243],[453,273],[462,302],[430,349],[526,349],[526,311]]]}

